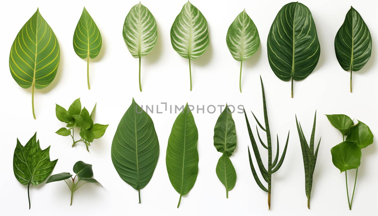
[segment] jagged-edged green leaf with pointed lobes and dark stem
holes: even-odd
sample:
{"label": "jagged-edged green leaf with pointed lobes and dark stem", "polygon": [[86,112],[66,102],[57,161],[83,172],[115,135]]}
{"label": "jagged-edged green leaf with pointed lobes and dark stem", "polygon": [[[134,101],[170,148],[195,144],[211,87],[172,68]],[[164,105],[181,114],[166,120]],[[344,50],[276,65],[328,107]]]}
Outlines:
{"label": "jagged-edged green leaf with pointed lobes and dark stem", "polygon": [[42,150],[37,141],[37,133],[22,146],[19,139],[14,149],[13,172],[16,179],[23,185],[28,185],[28,199],[30,209],[29,186],[44,182],[56,165],[58,159],[50,161],[50,146]]}

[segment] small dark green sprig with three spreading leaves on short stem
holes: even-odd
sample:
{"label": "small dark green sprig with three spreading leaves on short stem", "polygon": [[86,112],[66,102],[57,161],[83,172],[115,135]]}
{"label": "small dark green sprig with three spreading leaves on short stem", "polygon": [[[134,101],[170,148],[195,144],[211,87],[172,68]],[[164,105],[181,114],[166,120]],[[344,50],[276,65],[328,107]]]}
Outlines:
{"label": "small dark green sprig with three spreading leaves on short stem", "polygon": [[[70,191],[71,191],[71,204],[70,205],[72,205],[73,193],[77,189],[79,189],[81,186],[85,185],[86,183],[98,183],[99,185],[101,185],[96,179],[92,178],[93,170],[92,170],[91,164],[84,163],[80,160],[73,165],[73,172],[76,173],[74,177],[72,177],[72,175],[69,172],[62,172],[62,173],[50,176],[50,178],[48,178],[46,181],[46,184],[47,184],[50,182],[57,182],[57,181],[64,180],[64,182],[67,184],[68,188],[70,188]],[[72,183],[70,184],[68,184],[68,182],[66,181],[66,179],[69,179],[69,178],[71,178],[72,180]],[[79,182],[84,182],[84,183],[79,185]]]}

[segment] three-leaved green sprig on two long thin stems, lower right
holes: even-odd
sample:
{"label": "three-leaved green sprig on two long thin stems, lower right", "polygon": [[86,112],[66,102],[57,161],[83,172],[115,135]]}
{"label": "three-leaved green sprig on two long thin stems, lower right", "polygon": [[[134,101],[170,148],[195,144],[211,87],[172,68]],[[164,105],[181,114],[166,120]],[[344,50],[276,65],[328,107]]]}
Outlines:
{"label": "three-leaved green sprig on two long thin stems, lower right", "polygon": [[[353,196],[356,189],[358,167],[361,164],[361,149],[373,143],[373,134],[369,126],[358,121],[353,125],[353,120],[347,115],[326,115],[333,127],[342,134],[342,142],[331,149],[332,163],[340,172],[345,171],[345,184],[349,210],[352,210]],[[345,136],[347,138],[345,139]],[[347,170],[356,169],[355,183],[353,186],[352,199],[349,200]]]}

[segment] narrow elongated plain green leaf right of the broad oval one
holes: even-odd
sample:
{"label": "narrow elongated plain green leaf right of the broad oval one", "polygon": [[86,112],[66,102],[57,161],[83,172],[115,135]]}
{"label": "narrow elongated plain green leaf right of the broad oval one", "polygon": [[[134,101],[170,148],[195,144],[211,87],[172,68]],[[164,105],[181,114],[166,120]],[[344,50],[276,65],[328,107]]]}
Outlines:
{"label": "narrow elongated plain green leaf right of the broad oval one", "polygon": [[198,174],[198,130],[188,104],[178,114],[170,132],[166,165],[170,183],[181,197],[193,188]]}

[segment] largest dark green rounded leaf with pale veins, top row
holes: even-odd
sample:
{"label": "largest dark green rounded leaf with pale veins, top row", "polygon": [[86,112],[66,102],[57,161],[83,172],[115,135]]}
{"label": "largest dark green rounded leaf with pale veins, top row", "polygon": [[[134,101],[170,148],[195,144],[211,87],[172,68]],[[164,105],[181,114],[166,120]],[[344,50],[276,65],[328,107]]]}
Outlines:
{"label": "largest dark green rounded leaf with pale veins, top row", "polygon": [[298,2],[283,6],[268,34],[268,60],[283,81],[305,79],[318,64],[320,44],[310,10]]}

